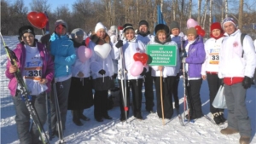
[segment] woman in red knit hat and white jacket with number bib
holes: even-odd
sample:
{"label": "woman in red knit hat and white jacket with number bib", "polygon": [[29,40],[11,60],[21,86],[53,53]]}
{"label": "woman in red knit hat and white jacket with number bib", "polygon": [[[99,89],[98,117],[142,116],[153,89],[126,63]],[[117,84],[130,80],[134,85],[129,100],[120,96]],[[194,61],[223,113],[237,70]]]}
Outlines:
{"label": "woman in red knit hat and white jacket with number bib", "polygon": [[201,66],[201,76],[203,80],[207,79],[210,91],[210,112],[216,124],[224,124],[224,109],[215,108],[212,102],[218,93],[219,86],[222,84],[222,79],[218,78],[218,60],[219,52],[224,38],[224,31],[219,22],[214,22],[211,25],[211,34],[205,43],[206,60]]}

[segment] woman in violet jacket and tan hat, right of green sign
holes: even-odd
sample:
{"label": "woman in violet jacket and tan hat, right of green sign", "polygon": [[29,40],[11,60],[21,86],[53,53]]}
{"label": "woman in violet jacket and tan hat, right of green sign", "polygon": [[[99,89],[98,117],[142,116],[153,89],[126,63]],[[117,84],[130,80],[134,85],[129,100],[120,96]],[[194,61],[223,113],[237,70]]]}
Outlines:
{"label": "woman in violet jacket and tan hat, right of green sign", "polygon": [[189,103],[188,119],[201,118],[201,66],[205,61],[206,52],[203,43],[203,38],[198,36],[194,27],[187,31],[188,40],[185,43],[187,57],[183,58],[186,72],[186,89]]}

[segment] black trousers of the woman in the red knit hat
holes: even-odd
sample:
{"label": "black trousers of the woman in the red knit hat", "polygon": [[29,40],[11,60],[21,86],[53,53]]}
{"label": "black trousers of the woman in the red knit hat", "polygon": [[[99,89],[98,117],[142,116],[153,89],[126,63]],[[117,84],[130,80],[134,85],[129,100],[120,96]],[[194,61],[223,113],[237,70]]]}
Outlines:
{"label": "black trousers of the woman in the red knit hat", "polygon": [[207,82],[210,90],[210,112],[224,112],[224,109],[215,108],[212,106],[212,102],[216,94],[218,93],[219,86],[221,85],[221,79],[218,78],[218,74],[207,73]]}

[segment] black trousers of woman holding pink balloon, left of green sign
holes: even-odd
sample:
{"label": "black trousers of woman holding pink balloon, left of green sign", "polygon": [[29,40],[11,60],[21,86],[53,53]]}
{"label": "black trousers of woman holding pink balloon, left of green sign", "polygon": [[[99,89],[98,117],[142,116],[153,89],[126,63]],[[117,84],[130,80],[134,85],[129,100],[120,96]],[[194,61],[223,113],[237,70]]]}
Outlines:
{"label": "black trousers of woman holding pink balloon, left of green sign", "polygon": [[[121,117],[125,117],[125,102],[124,102],[124,96],[122,95],[122,87],[121,87],[121,80],[119,80],[119,86],[120,86],[120,111],[121,111]],[[140,79],[131,79],[126,80],[126,107],[128,107],[127,117],[129,115],[130,110],[130,89],[132,94],[132,111],[133,116],[136,116],[137,113],[141,113],[142,109],[142,101],[143,101],[143,78]]]}

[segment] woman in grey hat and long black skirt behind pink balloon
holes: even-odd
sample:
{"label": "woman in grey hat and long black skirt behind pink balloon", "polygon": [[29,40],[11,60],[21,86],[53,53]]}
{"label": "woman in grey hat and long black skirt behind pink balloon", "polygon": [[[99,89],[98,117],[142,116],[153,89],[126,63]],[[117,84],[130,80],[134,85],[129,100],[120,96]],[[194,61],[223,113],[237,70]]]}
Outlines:
{"label": "woman in grey hat and long black skirt behind pink balloon", "polygon": [[[85,46],[84,30],[76,28],[71,32],[73,46],[76,50],[76,55],[80,46]],[[90,60],[81,61],[79,56],[72,66],[72,78],[67,101],[67,109],[73,111],[73,123],[82,126],[84,121],[89,121],[90,118],[84,116],[84,109],[90,108],[93,105],[93,95],[90,80]]]}

